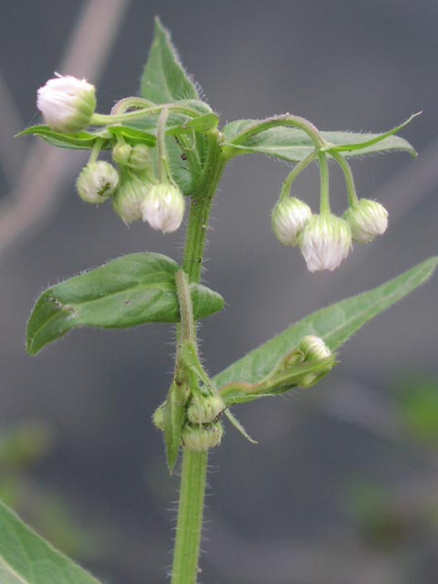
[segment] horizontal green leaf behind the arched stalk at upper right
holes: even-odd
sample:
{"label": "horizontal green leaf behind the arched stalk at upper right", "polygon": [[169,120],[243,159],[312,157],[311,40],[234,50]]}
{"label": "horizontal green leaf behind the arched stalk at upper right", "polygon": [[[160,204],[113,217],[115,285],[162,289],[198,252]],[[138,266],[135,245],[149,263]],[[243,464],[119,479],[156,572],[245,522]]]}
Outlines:
{"label": "horizontal green leaf behind the arched stalk at upper right", "polygon": [[[334,151],[339,151],[345,158],[388,151],[407,151],[415,155],[415,150],[408,141],[393,135],[404,128],[413,117],[381,134],[349,131],[321,131],[320,134],[333,145]],[[295,128],[275,127],[245,138],[245,132],[257,123],[260,120],[237,120],[224,127],[224,148],[228,149],[229,156],[260,153],[287,162],[300,162],[314,151],[315,147],[308,134]]]}

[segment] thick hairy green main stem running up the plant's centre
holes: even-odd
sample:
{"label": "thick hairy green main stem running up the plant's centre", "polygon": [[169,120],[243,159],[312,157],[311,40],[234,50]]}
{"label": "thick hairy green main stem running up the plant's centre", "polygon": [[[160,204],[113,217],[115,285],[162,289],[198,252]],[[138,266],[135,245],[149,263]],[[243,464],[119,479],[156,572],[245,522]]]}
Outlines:
{"label": "thick hairy green main stem running up the plant's centre", "polygon": [[[203,266],[203,250],[210,219],[210,212],[224,171],[225,160],[218,134],[209,134],[209,149],[203,177],[196,193],[193,193],[189,225],[183,256],[183,271],[190,282],[199,282]],[[181,283],[180,283],[181,284]],[[185,324],[187,326],[187,323]],[[178,344],[182,339],[182,327],[177,328]],[[196,335],[195,323],[191,336]],[[180,502],[176,526],[175,548],[172,564],[172,584],[196,584],[199,549],[203,526],[203,499],[207,473],[207,453],[183,448]]]}

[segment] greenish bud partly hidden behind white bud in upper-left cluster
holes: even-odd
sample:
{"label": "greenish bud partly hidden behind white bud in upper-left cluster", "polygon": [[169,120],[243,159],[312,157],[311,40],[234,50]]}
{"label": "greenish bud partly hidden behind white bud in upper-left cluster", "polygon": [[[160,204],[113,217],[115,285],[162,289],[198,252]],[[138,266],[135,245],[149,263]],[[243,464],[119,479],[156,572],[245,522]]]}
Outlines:
{"label": "greenish bud partly hidden behind white bud in upper-left cluster", "polygon": [[141,205],[150,192],[152,183],[148,174],[123,172],[114,199],[114,211],[122,221],[130,224],[141,219]]}

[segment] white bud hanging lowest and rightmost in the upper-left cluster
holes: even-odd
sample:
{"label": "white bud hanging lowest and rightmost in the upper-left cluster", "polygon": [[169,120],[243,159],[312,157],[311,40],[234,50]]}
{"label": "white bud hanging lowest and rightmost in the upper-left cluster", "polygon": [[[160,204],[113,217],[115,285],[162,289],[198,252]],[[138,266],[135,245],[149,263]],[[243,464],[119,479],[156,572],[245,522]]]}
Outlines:
{"label": "white bud hanging lowest and rightmost in the upper-left cluster", "polygon": [[176,231],[183,222],[184,197],[172,184],[155,184],[141,203],[143,221],[163,234]]}

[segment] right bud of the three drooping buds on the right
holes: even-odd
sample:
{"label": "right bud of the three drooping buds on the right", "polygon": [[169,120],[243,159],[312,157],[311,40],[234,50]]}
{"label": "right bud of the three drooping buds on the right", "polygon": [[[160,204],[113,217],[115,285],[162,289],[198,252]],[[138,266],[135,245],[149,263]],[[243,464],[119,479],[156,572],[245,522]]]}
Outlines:
{"label": "right bud of the three drooping buds on the right", "polygon": [[344,213],[344,219],[351,228],[353,241],[369,244],[388,227],[388,211],[377,201],[360,199]]}

